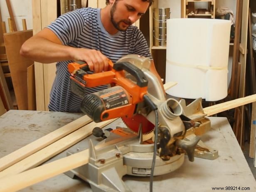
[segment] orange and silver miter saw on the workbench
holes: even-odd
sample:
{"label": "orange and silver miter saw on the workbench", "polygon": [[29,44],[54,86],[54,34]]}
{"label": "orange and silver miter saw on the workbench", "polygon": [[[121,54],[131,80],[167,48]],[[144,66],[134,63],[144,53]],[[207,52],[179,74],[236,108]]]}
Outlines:
{"label": "orange and silver miter saw on the workbench", "polygon": [[131,191],[121,180],[123,175],[172,172],[183,164],[185,154],[190,161],[194,154],[217,157],[217,151],[199,144],[196,136],[210,128],[201,99],[188,106],[184,100],[166,99],[150,64],[150,59],[131,54],[115,64],[109,61],[108,71],[97,74],[87,74],[84,62],[68,66],[71,90],[79,96],[84,96],[86,87],[111,85],[86,95],[81,111],[95,122],[121,117],[128,127],[95,128],[94,135],[103,140],[96,146],[90,140],[89,163],[69,172],[89,182],[94,192]]}

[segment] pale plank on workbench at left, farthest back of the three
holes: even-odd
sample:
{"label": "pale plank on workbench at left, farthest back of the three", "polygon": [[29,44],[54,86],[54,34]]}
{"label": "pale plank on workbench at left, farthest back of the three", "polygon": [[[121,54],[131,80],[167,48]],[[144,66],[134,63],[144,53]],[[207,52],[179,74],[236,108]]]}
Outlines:
{"label": "pale plank on workbench at left, farthest back of the three", "polygon": [[53,131],[52,133],[49,133],[42,138],[39,138],[38,140],[35,140],[34,142],[14,151],[13,153],[0,158],[0,171],[5,170],[7,167],[10,167],[24,158],[27,158],[29,155],[36,153],[42,148],[45,148],[46,146],[81,128],[87,123],[90,123],[91,121],[91,118],[88,116],[82,116],[81,118],[72,121],[71,123]]}

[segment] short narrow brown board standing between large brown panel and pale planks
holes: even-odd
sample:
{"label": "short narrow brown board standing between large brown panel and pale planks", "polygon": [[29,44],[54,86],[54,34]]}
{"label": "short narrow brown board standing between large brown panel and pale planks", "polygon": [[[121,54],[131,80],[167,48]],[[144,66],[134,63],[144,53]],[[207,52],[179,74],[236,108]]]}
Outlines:
{"label": "short narrow brown board standing between large brown panel and pale planks", "polygon": [[34,64],[27,68],[27,108],[28,110],[36,110],[36,89],[34,80]]}

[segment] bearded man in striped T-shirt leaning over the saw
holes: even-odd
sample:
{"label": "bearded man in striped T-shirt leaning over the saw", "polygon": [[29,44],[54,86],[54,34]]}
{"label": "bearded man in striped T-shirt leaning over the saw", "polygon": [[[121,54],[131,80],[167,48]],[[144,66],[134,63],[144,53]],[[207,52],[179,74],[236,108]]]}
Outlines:
{"label": "bearded man in striped T-shirt leaning over the saw", "polygon": [[[50,111],[80,111],[81,98],[70,91],[67,64],[85,61],[91,71],[108,69],[127,54],[151,57],[145,37],[132,24],[140,19],[153,0],[106,0],[103,9],[81,8],[61,15],[28,39],[20,54],[37,62],[57,63],[49,102]],[[151,64],[151,71],[160,77]],[[86,89],[90,94],[106,85]]]}

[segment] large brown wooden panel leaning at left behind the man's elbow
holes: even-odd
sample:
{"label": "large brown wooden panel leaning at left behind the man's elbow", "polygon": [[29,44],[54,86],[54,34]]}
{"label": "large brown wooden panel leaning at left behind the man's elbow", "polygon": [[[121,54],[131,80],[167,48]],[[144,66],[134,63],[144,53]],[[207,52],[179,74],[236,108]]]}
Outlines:
{"label": "large brown wooden panel leaning at left behind the man's elbow", "polygon": [[27,110],[27,67],[34,63],[20,55],[20,48],[32,35],[32,30],[4,34],[12,84],[20,110]]}

